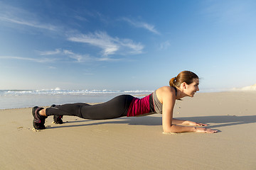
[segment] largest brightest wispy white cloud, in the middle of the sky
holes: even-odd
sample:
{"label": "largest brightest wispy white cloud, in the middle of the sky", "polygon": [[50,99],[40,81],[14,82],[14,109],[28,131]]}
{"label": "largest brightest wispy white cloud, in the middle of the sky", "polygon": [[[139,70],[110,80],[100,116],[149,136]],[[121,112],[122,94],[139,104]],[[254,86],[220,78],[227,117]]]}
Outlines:
{"label": "largest brightest wispy white cloud, in the middle of the sky", "polygon": [[103,56],[114,54],[140,54],[144,48],[140,43],[135,43],[129,39],[112,38],[105,32],[95,32],[94,34],[79,34],[73,35],[68,38],[73,42],[82,42],[100,47]]}

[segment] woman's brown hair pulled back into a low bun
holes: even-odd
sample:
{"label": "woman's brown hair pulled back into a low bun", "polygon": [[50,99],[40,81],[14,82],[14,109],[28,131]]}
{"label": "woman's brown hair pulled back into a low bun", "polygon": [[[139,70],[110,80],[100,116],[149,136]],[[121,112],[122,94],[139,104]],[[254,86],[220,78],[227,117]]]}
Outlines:
{"label": "woman's brown hair pulled back into a low bun", "polygon": [[177,77],[174,77],[170,79],[169,84],[170,86],[179,87],[183,82],[186,82],[186,84],[193,83],[193,79],[198,79],[198,76],[190,71],[183,71],[178,74]]}

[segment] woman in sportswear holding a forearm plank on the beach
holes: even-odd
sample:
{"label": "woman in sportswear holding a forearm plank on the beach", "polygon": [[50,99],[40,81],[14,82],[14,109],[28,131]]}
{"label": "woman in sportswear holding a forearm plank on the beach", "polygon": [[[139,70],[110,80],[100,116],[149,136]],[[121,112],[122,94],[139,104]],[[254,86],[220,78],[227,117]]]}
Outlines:
{"label": "woman in sportswear holding a forearm plank on the beach", "polygon": [[[199,91],[198,76],[190,71],[183,71],[169,81],[170,86],[156,89],[154,93],[144,98],[135,98],[130,95],[121,95],[105,103],[89,105],[87,103],[64,104],[50,108],[32,109],[33,127],[37,130],[45,129],[45,120],[49,115],[54,115],[55,123],[62,123],[63,115],[75,115],[91,120],[120,118],[122,116],[149,115],[162,113],[162,126],[164,132],[206,132],[214,133],[218,130],[198,128],[206,126],[203,123],[194,123],[188,120],[173,118],[175,101],[185,96],[193,97]],[[184,126],[186,125],[186,126]]]}

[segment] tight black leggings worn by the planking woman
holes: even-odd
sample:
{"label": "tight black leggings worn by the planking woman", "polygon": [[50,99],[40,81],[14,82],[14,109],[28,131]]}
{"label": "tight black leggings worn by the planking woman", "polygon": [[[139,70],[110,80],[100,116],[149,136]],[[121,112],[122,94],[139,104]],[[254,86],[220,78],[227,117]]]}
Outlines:
{"label": "tight black leggings worn by the planking woman", "polygon": [[46,108],[46,115],[75,115],[92,120],[119,118],[127,115],[133,98],[130,95],[121,95],[96,105],[87,103],[64,104]]}

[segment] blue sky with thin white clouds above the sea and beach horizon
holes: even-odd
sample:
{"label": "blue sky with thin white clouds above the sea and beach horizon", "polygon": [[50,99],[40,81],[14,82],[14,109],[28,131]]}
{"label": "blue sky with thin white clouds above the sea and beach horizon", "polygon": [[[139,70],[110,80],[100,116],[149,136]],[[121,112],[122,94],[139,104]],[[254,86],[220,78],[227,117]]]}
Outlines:
{"label": "blue sky with thin white clouds above the sea and beach horizon", "polygon": [[0,89],[256,83],[256,1],[0,1]]}

